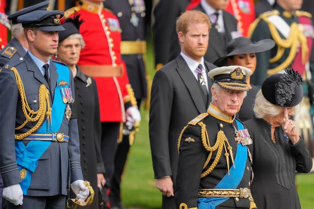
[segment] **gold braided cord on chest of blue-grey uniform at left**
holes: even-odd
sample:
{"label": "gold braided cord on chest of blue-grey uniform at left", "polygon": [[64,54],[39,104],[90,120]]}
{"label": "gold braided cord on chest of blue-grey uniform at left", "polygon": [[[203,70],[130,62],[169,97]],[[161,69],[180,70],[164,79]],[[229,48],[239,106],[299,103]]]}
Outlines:
{"label": "gold braided cord on chest of blue-grey uniform at left", "polygon": [[[51,122],[51,107],[50,107],[50,102],[49,102],[49,91],[47,90],[46,86],[44,84],[42,84],[39,87],[39,108],[37,111],[34,111],[32,109],[30,109],[29,104],[27,103],[27,99],[25,96],[25,90],[24,90],[24,86],[23,86],[23,82],[17,72],[17,69],[15,67],[12,67],[10,69],[11,71],[14,72],[15,75],[15,79],[16,79],[16,84],[17,84],[17,88],[21,97],[21,103],[22,103],[22,110],[23,110],[23,114],[25,116],[25,121],[23,124],[21,124],[20,126],[16,127],[15,130],[19,130],[22,127],[24,127],[28,122],[35,122],[37,121],[36,125],[34,127],[32,127],[31,129],[29,129],[28,131],[26,131],[25,133],[22,134],[15,134],[14,138],[17,140],[21,140],[23,138],[25,138],[26,136],[29,136],[30,134],[32,134],[33,132],[35,132],[39,126],[42,124],[42,122],[44,121],[45,115],[47,116],[47,129],[48,129],[48,122],[50,120],[50,125],[52,124]],[[46,111],[47,109],[47,111]],[[52,125],[51,125],[52,126]]]}

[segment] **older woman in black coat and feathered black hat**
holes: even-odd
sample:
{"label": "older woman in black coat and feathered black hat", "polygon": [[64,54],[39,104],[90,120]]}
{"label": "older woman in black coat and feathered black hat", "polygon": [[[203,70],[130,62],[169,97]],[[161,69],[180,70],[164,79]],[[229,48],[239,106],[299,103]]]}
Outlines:
{"label": "older woman in black coat and feathered black hat", "polygon": [[55,58],[69,66],[74,77],[75,106],[80,137],[81,167],[84,180],[91,183],[95,191],[94,203],[84,209],[98,208],[97,186],[104,186],[105,168],[100,152],[100,113],[96,82],[83,74],[76,65],[79,61],[84,40],[79,34],[79,15],[65,19],[59,32],[59,46]]}

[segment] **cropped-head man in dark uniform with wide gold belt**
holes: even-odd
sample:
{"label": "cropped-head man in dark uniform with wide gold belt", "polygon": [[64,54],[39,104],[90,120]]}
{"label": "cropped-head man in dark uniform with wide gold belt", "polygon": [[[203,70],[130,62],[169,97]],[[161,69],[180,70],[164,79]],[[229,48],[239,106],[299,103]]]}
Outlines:
{"label": "cropped-head man in dark uniform with wide gold belt", "polygon": [[[147,98],[145,60],[145,2],[144,0],[106,0],[104,6],[117,15],[121,27],[121,57],[126,63],[130,84],[140,108],[142,100]],[[115,154],[115,168],[110,182],[111,208],[121,208],[120,184],[127,161],[130,145],[134,142],[133,133],[124,131]]]}

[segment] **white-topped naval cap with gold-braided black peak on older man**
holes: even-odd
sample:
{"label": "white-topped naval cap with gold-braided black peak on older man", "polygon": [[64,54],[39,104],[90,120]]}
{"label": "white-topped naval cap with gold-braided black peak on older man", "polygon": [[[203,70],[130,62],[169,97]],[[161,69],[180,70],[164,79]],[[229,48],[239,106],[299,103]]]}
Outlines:
{"label": "white-topped naval cap with gold-braided black peak on older man", "polygon": [[251,74],[252,71],[246,67],[231,65],[212,69],[208,77],[223,89],[249,91],[246,78]]}

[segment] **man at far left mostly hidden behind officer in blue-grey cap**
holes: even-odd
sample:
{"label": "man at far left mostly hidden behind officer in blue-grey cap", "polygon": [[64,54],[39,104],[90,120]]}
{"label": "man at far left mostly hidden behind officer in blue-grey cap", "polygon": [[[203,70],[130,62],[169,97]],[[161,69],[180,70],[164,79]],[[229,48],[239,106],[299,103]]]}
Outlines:
{"label": "man at far left mostly hidden behind officer in blue-grey cap", "polygon": [[35,10],[47,10],[49,1],[42,1],[35,5],[23,8],[7,16],[11,20],[12,40],[0,51],[0,68],[10,60],[23,57],[28,50],[28,44],[22,25],[17,23],[17,17]]}

